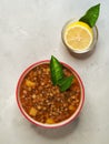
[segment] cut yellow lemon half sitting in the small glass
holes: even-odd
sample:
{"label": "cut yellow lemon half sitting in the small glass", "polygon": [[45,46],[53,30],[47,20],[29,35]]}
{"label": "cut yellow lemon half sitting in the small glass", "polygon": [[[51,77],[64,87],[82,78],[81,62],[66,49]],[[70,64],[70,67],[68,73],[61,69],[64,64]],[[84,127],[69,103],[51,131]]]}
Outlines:
{"label": "cut yellow lemon half sitting in the small glass", "polygon": [[86,50],[92,43],[93,32],[87,23],[77,21],[66,27],[63,39],[70,49]]}

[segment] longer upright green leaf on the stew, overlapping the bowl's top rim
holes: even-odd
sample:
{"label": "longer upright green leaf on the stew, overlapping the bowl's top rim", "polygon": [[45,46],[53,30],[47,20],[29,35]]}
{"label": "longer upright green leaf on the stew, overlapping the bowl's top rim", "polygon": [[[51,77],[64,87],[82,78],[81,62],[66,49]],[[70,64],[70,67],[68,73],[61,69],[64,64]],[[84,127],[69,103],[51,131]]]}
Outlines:
{"label": "longer upright green leaf on the stew, overlapping the bowl's top rim", "polygon": [[50,71],[52,83],[56,85],[58,81],[63,78],[63,71],[62,64],[53,55],[51,55],[50,60]]}

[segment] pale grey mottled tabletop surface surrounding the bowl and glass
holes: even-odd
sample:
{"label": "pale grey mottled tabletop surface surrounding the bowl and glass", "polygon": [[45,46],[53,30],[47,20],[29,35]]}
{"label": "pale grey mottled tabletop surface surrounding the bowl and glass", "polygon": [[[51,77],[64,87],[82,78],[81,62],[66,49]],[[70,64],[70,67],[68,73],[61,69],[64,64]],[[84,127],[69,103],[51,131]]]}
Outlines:
{"label": "pale grey mottled tabletop surface surrounding the bowl and glass", "polygon": [[[72,56],[61,42],[61,29],[71,18],[101,3],[96,51]],[[0,0],[0,144],[109,143],[109,1]],[[30,64],[51,54],[80,74],[86,90],[81,114],[73,123],[43,130],[29,123],[16,102],[16,86]]]}

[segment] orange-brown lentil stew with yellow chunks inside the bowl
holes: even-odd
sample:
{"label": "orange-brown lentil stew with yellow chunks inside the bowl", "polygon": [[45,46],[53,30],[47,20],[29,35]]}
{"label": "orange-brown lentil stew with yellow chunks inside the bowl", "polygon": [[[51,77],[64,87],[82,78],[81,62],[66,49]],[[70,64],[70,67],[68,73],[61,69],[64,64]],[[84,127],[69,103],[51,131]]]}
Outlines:
{"label": "orange-brown lentil stew with yellow chunks inside the bowl", "polygon": [[[66,76],[72,72],[63,66]],[[60,92],[51,82],[50,66],[40,64],[28,72],[20,86],[20,102],[23,110],[40,123],[59,123],[70,117],[80,103],[80,85],[73,75],[71,86]]]}

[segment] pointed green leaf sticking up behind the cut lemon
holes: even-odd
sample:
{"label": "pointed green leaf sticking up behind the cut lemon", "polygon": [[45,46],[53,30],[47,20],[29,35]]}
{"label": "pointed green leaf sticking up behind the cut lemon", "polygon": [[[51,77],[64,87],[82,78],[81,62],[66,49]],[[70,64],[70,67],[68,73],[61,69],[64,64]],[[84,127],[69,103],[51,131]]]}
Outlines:
{"label": "pointed green leaf sticking up behind the cut lemon", "polygon": [[96,24],[100,11],[100,3],[91,7],[79,21],[88,23],[91,28]]}

